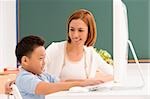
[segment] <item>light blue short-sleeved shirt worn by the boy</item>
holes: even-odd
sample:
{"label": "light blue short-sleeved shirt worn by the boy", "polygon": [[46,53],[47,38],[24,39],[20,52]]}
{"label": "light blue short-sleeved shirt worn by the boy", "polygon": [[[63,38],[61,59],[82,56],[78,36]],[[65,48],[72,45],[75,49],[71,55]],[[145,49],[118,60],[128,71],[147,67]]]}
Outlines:
{"label": "light blue short-sleeved shirt worn by the boy", "polygon": [[57,82],[58,78],[49,75],[48,73],[42,73],[40,75],[34,75],[24,69],[17,75],[16,85],[21,93],[23,99],[45,99],[44,95],[36,95],[35,89],[39,82]]}

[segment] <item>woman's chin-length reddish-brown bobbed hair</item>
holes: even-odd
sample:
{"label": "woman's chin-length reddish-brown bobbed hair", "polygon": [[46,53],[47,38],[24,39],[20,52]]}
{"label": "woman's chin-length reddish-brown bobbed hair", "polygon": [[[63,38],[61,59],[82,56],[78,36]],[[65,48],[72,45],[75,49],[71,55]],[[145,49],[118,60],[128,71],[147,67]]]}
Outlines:
{"label": "woman's chin-length reddish-brown bobbed hair", "polygon": [[79,9],[68,18],[67,22],[67,40],[70,43],[71,39],[69,37],[69,25],[70,22],[74,19],[81,19],[83,22],[85,22],[88,26],[88,36],[87,40],[85,41],[86,46],[93,46],[96,42],[96,36],[97,36],[97,29],[96,29],[96,23],[93,14],[85,9]]}

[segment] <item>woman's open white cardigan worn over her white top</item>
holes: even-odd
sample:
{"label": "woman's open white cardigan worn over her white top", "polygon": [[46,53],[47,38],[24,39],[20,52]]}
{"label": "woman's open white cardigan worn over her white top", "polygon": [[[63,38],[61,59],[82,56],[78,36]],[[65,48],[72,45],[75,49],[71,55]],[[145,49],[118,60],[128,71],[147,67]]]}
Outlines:
{"label": "woman's open white cardigan worn over her white top", "polygon": [[[62,73],[62,69],[64,68],[66,44],[67,44],[67,41],[61,41],[61,42],[56,42],[56,43],[53,42],[46,49],[46,70],[50,74],[53,74],[54,76],[57,76],[61,79],[64,79],[61,73]],[[94,78],[97,69],[100,69],[101,71],[107,74],[111,74],[111,75],[113,74],[113,67],[107,64],[100,57],[100,55],[94,50],[92,46],[90,47],[84,46],[84,51],[85,51],[85,63],[86,63],[85,71],[87,73],[87,78]],[[70,64],[73,65],[73,63],[70,63]],[[67,68],[67,66],[65,66],[65,68]],[[82,67],[79,67],[79,68],[81,69]],[[77,71],[76,73],[78,73],[79,68],[74,67],[74,71]],[[69,72],[65,73],[65,75],[69,76],[70,73]],[[74,77],[75,76],[76,75],[74,74]]]}

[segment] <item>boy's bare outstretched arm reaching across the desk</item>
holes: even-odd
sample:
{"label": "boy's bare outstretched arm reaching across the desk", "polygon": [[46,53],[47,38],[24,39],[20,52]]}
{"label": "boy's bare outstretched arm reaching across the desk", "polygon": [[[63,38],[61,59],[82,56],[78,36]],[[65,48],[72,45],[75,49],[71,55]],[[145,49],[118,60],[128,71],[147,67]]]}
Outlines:
{"label": "boy's bare outstretched arm reaching across the desk", "polygon": [[78,81],[63,81],[56,83],[39,82],[36,86],[35,94],[46,95],[58,91],[68,90],[73,86],[91,86],[103,83],[101,80],[78,80]]}

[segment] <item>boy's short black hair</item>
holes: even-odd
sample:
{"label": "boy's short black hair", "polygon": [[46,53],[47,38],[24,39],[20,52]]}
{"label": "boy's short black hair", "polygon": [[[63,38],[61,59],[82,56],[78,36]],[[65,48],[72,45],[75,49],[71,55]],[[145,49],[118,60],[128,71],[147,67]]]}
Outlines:
{"label": "boy's short black hair", "polygon": [[35,48],[39,46],[44,46],[45,41],[38,36],[26,36],[17,44],[15,54],[18,62],[21,63],[21,58],[23,56],[30,57],[31,53]]}

